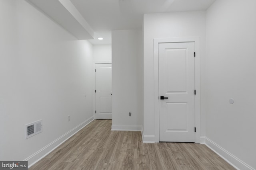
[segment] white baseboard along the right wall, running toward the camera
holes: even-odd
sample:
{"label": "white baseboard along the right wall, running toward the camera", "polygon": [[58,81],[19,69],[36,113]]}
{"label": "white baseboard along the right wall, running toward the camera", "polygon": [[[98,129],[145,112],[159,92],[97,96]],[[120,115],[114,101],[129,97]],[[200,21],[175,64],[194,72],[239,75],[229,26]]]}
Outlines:
{"label": "white baseboard along the right wall, running toward the camera", "polygon": [[237,170],[255,170],[224,148],[220,147],[218,144],[214,143],[207,137],[201,137],[202,144],[205,144],[208,148],[213,150],[216,154],[218,154],[221,158],[226,160],[230,165],[234,166]]}

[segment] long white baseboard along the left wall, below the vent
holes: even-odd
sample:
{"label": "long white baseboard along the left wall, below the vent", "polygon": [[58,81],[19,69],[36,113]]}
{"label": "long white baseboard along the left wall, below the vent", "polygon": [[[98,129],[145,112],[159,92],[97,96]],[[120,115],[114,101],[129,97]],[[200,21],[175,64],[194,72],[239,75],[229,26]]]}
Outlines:
{"label": "long white baseboard along the left wall, below the vent", "polygon": [[36,153],[32,154],[28,158],[25,159],[25,161],[28,161],[28,168],[30,168],[32,165],[34,165],[36,162],[44,158],[46,155],[48,155],[50,152],[52,152],[54,149],[56,149],[58,146],[60,146],[62,143],[64,143],[66,140],[68,140],[70,137],[72,137],[74,134],[76,134],[78,131],[80,131],[83,127],[88,125],[91,121],[94,120],[94,117],[90,117],[86,121],[80,123],[75,128],[71,129],[52,143],[46,145],[42,149],[38,150]]}

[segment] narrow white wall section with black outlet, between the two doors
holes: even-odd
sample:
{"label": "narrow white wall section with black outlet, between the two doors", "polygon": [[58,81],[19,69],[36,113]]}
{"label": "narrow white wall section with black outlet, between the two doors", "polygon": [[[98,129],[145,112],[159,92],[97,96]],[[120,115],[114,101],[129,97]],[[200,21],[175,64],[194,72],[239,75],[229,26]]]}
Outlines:
{"label": "narrow white wall section with black outlet, between the two doors", "polygon": [[[112,130],[140,130],[143,111],[141,30],[112,31]],[[132,116],[129,117],[128,113]]]}

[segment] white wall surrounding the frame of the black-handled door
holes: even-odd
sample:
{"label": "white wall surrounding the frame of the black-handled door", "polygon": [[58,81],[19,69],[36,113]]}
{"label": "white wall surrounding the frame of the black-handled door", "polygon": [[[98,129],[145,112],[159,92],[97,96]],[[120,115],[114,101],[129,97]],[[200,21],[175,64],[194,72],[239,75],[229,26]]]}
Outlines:
{"label": "white wall surrounding the frame of the black-handled door", "polygon": [[[154,38],[200,37],[201,136],[205,135],[206,12],[144,14],[144,135],[154,138]],[[156,96],[158,97],[158,96]],[[152,139],[151,139],[152,140]],[[154,141],[154,140],[152,140]]]}

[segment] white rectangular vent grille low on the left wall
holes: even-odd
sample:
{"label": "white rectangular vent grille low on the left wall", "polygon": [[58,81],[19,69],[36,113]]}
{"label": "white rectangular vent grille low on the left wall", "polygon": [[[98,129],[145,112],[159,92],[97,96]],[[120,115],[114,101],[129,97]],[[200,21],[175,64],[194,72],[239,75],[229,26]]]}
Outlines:
{"label": "white rectangular vent grille low on the left wall", "polygon": [[26,124],[26,139],[42,132],[42,120]]}

